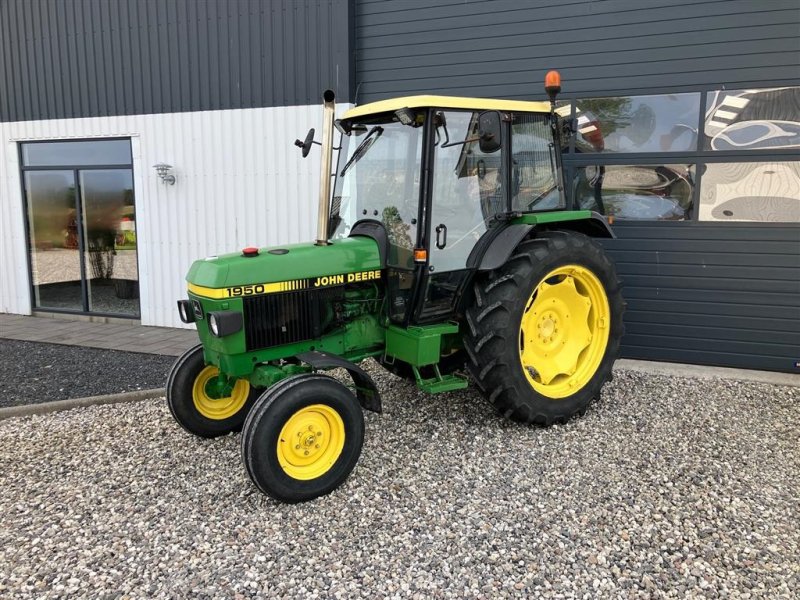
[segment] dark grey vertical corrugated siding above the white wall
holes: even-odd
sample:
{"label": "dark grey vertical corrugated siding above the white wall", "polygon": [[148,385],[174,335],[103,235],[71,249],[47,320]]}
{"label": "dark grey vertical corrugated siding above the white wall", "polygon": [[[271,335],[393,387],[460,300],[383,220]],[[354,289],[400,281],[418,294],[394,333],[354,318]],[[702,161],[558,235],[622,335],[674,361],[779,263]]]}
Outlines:
{"label": "dark grey vertical corrugated siding above the white wall", "polygon": [[347,101],[350,5],[3,0],[0,121]]}

